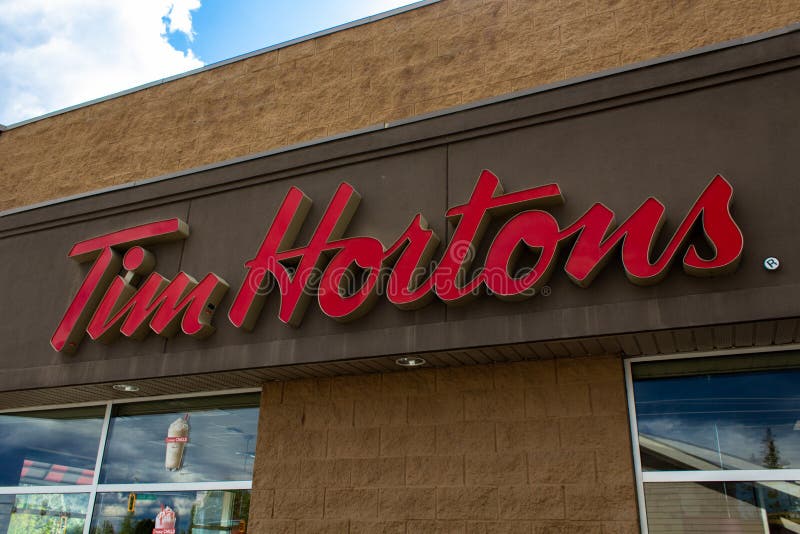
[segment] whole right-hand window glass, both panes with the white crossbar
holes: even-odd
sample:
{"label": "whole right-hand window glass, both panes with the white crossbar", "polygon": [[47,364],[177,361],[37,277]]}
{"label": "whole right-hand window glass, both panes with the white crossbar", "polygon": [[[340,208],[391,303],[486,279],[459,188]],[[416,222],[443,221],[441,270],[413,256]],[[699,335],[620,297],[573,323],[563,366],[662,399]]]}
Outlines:
{"label": "whole right-hand window glass, both panes with the white crossbar", "polygon": [[628,369],[650,534],[800,532],[800,351]]}

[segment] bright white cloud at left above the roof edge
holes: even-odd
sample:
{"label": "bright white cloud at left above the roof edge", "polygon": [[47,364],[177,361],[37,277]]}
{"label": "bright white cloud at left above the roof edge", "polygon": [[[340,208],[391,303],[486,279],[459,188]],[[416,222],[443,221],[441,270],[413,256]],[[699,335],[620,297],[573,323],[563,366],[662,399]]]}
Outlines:
{"label": "bright white cloud at left above the roof edge", "polygon": [[0,123],[11,124],[201,67],[200,0],[0,0]]}

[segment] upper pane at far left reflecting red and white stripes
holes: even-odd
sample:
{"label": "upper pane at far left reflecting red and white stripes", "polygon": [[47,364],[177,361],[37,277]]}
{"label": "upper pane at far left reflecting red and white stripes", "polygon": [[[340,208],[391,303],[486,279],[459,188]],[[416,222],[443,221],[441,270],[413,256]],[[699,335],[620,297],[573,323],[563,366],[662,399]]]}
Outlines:
{"label": "upper pane at far left reflecting red and white stripes", "polygon": [[105,406],[0,414],[0,486],[92,484]]}

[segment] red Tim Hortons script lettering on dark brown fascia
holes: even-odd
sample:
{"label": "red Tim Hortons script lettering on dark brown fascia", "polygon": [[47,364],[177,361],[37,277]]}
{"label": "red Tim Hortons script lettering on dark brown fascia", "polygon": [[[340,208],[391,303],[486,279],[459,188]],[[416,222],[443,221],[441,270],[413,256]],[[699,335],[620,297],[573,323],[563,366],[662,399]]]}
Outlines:
{"label": "red Tim Hortons script lettering on dark brown fascia", "polygon": [[[564,202],[558,185],[505,193],[498,178],[483,171],[469,201],[447,211],[455,229],[436,263],[432,260],[440,239],[421,214],[388,247],[373,237],[345,237],[360,199],[351,185],[339,185],[310,241],[298,247],[295,239],[311,199],[290,188],[261,246],[245,263],[244,281],[228,310],[230,322],[251,330],[273,290],[280,298],[279,319],[292,326],[300,324],[313,299],[338,321],[365,314],[381,294],[404,310],[433,298],[460,304],[481,292],[524,299],[547,282],[567,246],[564,271],[581,287],[591,284],[617,249],[628,279],[648,285],[661,280],[681,252],[683,269],[692,276],[731,272],[743,247],[730,212],[733,188],[722,176],[711,180],[658,255],[653,248],[665,207],[654,198],[616,227],[614,212],[600,203],[562,227],[544,211]],[[507,222],[493,236],[484,264],[475,266],[475,250],[495,217]],[[703,257],[689,243],[693,232],[702,233],[712,257]],[[75,244],[69,257],[92,265],[53,334],[53,348],[74,352],[85,334],[103,342],[120,334],[140,339],[150,331],[162,336],[179,330],[196,337],[211,334],[211,319],[228,283],[213,273],[197,281],[180,272],[169,280],[153,271],[155,256],[145,248],[188,236],[185,222],[169,219]],[[525,249],[534,253],[535,261],[521,267],[519,256]]]}

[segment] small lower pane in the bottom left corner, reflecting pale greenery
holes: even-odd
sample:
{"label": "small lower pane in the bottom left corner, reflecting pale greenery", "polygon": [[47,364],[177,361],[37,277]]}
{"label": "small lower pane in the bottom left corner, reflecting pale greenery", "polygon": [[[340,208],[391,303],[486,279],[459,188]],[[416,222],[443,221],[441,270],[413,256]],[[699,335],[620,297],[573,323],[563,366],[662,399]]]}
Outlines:
{"label": "small lower pane in the bottom left corner, reflecting pale greenery", "polygon": [[0,532],[81,534],[88,493],[0,495]]}

